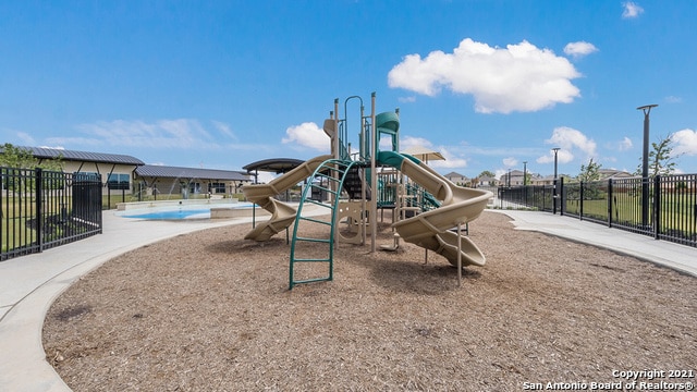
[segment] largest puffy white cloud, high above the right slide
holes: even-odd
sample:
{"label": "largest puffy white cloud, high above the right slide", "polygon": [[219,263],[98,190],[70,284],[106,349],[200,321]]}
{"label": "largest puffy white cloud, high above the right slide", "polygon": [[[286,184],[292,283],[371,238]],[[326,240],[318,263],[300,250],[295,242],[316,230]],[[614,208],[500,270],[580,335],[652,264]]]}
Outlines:
{"label": "largest puffy white cloud, high above the right slide", "polygon": [[528,41],[492,48],[466,38],[452,53],[405,56],[388,74],[388,84],[427,96],[442,88],[470,94],[477,112],[510,113],[572,102],[580,93],[571,81],[579,76],[566,58]]}

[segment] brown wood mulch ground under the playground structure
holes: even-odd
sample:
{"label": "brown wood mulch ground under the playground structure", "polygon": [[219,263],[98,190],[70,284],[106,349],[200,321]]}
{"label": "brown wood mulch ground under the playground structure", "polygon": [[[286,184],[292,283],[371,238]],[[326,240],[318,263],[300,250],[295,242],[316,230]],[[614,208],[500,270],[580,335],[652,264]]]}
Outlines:
{"label": "brown wood mulch ground under the playground structure", "polygon": [[181,235],[83,277],[46,317],[47,360],[75,391],[521,391],[697,369],[697,279],[502,213],[470,223],[487,265],[462,286],[415,245],[341,244],[333,281],[289,291],[285,236],[249,230]]}

